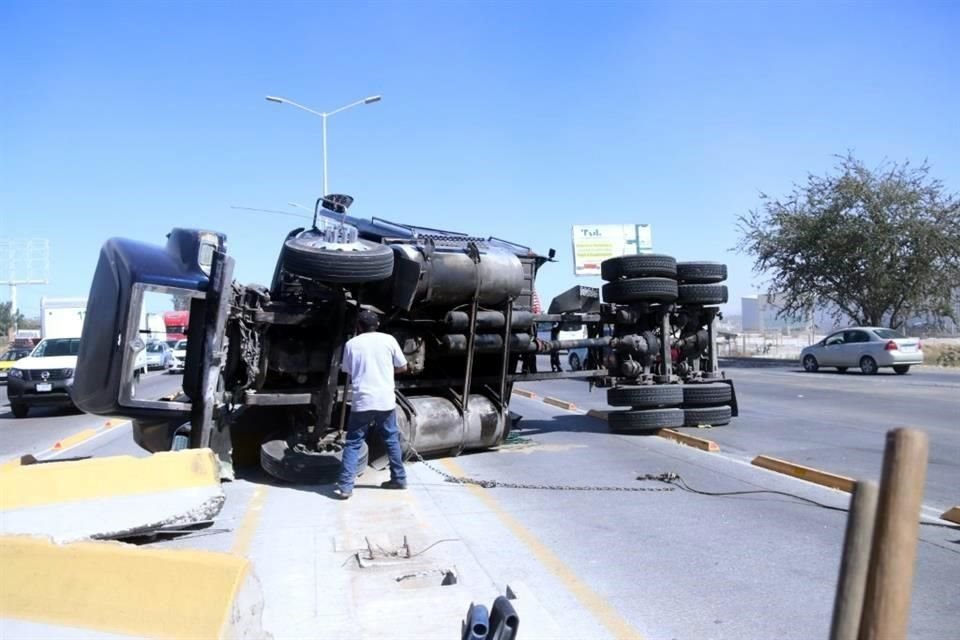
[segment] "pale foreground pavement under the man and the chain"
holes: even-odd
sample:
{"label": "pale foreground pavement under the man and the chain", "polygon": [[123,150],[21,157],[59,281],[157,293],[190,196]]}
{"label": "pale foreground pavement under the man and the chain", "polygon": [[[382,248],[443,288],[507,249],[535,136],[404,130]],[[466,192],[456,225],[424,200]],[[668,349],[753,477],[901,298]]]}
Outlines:
{"label": "pale foreground pavement under the man and the chain", "polygon": [[[611,435],[599,420],[537,400],[518,398],[512,408],[524,416],[526,442],[432,464],[479,479],[631,487],[659,486],[635,481],[638,474],[673,471],[709,491],[775,489],[836,507],[848,500],[738,456]],[[135,451],[124,427],[72,455]],[[249,476],[225,486],[227,503],[209,531],[155,544],[247,555],[276,638],[449,638],[470,601],[489,603],[507,585],[518,593],[525,638],[827,635],[842,512],[762,494],[471,489],[421,464],[409,474],[409,491],[389,492],[376,488],[382,472],[368,470],[345,503],[329,486]],[[957,531],[921,527],[911,638],[955,631]],[[368,540],[394,550],[404,536],[424,552],[417,562],[358,567]],[[446,570],[456,585],[441,586]]]}

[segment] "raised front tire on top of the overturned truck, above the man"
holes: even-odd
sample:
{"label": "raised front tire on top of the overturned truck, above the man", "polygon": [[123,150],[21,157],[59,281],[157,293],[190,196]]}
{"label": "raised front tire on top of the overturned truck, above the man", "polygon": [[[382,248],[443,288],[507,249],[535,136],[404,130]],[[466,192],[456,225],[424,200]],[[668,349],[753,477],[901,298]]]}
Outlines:
{"label": "raised front tire on top of the overturned truck, above the man", "polygon": [[320,236],[311,231],[283,243],[283,268],[299,276],[334,284],[361,284],[393,274],[393,249],[368,240],[343,245],[342,249],[316,244]]}

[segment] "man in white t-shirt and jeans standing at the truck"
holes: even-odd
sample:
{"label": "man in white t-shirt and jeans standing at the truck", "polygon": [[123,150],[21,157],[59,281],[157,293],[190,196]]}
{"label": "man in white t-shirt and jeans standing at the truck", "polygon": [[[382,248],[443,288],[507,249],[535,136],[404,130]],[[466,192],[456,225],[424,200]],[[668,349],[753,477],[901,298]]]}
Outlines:
{"label": "man in white t-shirt and jeans standing at the truck", "polygon": [[379,326],[377,314],[361,311],[357,317],[357,335],[343,346],[340,368],[350,376],[353,398],[340,479],[334,490],[334,495],[341,500],[353,495],[357,462],[370,427],[382,434],[390,458],[390,480],[380,486],[384,489],[407,488],[393,382],[394,374],[406,371],[407,358],[393,336],[377,331]]}

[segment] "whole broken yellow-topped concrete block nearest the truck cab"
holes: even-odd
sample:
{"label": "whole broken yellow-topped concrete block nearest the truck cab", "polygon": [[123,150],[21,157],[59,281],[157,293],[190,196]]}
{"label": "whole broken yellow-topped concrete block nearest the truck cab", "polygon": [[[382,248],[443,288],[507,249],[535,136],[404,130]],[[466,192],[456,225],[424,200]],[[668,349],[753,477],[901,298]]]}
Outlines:
{"label": "whole broken yellow-topped concrete block nearest the truck cab", "polygon": [[209,520],[223,506],[209,449],[0,468],[0,535],[118,538]]}

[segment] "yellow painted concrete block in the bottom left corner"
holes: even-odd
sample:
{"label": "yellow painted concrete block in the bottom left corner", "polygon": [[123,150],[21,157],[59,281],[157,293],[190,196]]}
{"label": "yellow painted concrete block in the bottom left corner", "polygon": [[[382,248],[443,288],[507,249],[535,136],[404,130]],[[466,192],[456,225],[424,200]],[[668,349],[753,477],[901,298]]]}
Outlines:
{"label": "yellow painted concrete block in the bottom left corner", "polygon": [[53,635],[68,627],[138,638],[223,638],[240,622],[253,631],[242,637],[256,637],[260,624],[256,606],[253,620],[237,619],[250,617],[236,601],[252,580],[250,562],[240,556],[4,537],[0,566],[0,617],[53,625]]}

